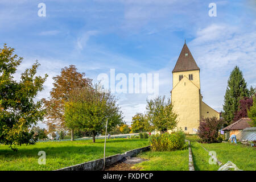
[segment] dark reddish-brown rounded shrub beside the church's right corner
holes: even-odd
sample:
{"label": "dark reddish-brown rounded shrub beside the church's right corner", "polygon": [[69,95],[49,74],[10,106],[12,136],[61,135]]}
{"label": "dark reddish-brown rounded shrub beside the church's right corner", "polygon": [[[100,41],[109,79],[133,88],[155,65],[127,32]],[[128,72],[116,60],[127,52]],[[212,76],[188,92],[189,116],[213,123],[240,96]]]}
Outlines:
{"label": "dark reddish-brown rounded shrub beside the church's right corner", "polygon": [[224,121],[216,117],[204,118],[199,123],[198,136],[203,142],[214,143],[218,142],[218,131],[223,126]]}

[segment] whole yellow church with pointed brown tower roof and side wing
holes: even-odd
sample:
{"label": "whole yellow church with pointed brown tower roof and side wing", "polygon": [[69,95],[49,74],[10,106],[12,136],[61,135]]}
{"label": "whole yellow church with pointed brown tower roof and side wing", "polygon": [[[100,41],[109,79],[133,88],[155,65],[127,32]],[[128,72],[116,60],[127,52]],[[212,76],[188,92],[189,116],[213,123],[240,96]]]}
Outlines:
{"label": "whole yellow church with pointed brown tower roof and side wing", "polygon": [[185,43],[172,70],[171,102],[178,114],[177,127],[188,134],[197,132],[202,118],[220,118],[220,113],[203,102],[200,90],[200,68]]}

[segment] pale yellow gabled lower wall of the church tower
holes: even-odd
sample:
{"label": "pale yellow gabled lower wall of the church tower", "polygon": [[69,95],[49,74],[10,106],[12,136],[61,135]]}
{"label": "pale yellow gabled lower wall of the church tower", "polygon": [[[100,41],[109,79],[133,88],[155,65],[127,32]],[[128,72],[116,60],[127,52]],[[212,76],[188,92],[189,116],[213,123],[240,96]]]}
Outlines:
{"label": "pale yellow gabled lower wall of the church tower", "polygon": [[[199,73],[199,71],[197,72]],[[180,73],[177,73],[178,81]],[[194,75],[193,77],[196,78]],[[174,111],[178,114],[177,119],[179,122],[177,127],[181,127],[185,133],[195,134],[196,131],[193,129],[198,129],[200,120],[201,99],[199,88],[187,76],[183,76],[183,79],[172,89],[171,101],[174,105]],[[185,130],[185,127],[187,127],[187,130]]]}

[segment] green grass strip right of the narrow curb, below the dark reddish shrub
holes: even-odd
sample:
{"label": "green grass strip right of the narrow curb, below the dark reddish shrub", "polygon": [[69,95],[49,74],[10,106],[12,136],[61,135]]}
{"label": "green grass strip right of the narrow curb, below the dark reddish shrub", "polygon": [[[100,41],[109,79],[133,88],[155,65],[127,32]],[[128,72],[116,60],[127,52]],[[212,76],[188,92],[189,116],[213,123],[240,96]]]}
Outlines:
{"label": "green grass strip right of the narrow curb, below the dark reddish shrub", "polygon": [[212,171],[220,168],[217,164],[209,164],[210,156],[203,147],[208,151],[216,151],[217,159],[220,160],[222,164],[225,164],[230,160],[242,170],[249,171],[256,169],[256,150],[253,147],[230,143],[198,143],[196,141],[199,137],[196,135],[188,135],[186,139],[191,141],[191,149],[196,171]]}

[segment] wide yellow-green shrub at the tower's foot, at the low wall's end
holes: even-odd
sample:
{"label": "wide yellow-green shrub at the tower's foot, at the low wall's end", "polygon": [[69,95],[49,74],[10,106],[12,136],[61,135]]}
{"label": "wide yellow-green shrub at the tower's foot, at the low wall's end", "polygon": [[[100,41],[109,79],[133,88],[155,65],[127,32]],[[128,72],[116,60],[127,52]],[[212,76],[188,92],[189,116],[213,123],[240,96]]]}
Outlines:
{"label": "wide yellow-green shrub at the tower's foot, at the low wall's end", "polygon": [[183,150],[187,147],[183,131],[151,135],[150,146],[153,151]]}

